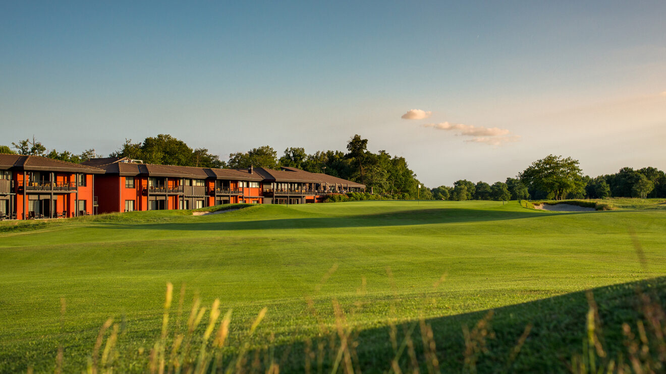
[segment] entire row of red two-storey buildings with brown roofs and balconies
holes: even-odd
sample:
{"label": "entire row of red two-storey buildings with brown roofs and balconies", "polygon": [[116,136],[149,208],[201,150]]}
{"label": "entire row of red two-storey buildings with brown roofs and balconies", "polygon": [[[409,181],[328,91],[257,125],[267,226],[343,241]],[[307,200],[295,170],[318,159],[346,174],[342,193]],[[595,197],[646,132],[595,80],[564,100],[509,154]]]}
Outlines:
{"label": "entire row of red two-storey buildings with brown roofs and balconies", "polygon": [[213,205],[321,203],[365,186],[294,167],[215,169],[153,165],[126,157],[69,163],[0,154],[0,219],[197,209]]}

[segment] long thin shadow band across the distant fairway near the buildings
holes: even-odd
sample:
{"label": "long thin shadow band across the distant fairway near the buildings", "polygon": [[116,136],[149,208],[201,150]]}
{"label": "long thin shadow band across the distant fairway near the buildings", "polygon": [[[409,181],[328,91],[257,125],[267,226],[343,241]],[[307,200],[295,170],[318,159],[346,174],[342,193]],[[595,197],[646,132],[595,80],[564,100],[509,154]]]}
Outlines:
{"label": "long thin shadow band across the distant fairway near the buildings", "polygon": [[345,227],[388,227],[408,225],[432,225],[438,223],[466,223],[482,221],[505,221],[510,219],[533,219],[549,215],[577,215],[589,212],[541,213],[535,215],[525,211],[490,211],[474,209],[421,209],[372,215],[350,215],[336,217],[303,217],[246,221],[170,222],[144,224],[108,224],[108,229],[127,230],[175,230],[175,231],[236,231],[266,229],[338,229]]}

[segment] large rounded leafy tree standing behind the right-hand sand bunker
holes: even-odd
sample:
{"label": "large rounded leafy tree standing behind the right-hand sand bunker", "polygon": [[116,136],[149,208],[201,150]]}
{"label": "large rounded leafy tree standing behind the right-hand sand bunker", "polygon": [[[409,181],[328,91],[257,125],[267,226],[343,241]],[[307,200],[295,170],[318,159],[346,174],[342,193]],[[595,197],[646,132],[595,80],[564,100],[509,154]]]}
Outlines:
{"label": "large rounded leafy tree standing behind the right-hand sand bunker", "polygon": [[547,155],[520,173],[520,180],[532,189],[543,191],[548,199],[565,199],[581,193],[585,183],[579,161],[571,157]]}

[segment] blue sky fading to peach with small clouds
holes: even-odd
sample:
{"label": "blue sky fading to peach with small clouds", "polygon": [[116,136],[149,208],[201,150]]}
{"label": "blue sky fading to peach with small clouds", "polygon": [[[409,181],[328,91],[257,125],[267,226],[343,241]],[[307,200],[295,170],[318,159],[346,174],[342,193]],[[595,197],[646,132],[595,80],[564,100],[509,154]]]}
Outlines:
{"label": "blue sky fading to peach with small clouds", "polygon": [[360,134],[428,187],[549,153],[666,169],[665,19],[663,0],[3,1],[0,144],[171,134],[226,159]]}

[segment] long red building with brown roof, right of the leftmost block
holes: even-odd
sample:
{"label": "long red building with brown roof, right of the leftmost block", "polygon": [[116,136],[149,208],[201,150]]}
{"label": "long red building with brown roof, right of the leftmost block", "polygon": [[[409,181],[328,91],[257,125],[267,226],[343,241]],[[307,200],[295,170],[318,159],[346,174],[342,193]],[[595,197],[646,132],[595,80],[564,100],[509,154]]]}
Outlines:
{"label": "long red building with brown roof, right of the leftmost block", "polygon": [[95,176],[99,213],[234,203],[317,203],[332,193],[365,190],[360,183],[294,167],[214,169],[153,165],[117,157],[91,159],[84,164],[104,171]]}

